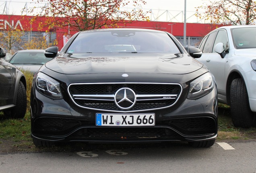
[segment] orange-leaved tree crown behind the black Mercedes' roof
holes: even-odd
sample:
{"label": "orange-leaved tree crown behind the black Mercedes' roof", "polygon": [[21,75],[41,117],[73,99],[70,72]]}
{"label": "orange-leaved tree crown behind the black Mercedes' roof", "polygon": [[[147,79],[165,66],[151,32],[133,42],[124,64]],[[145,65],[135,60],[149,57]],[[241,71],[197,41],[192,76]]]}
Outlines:
{"label": "orange-leaved tree crown behind the black Mercedes' roof", "polygon": [[[37,0],[45,3],[45,0]],[[132,4],[128,10],[120,10]],[[142,12],[144,0],[46,0],[43,13],[43,26],[66,28],[70,31],[81,31],[107,27],[118,27],[118,24],[131,23],[136,20],[148,20]],[[33,9],[35,10],[35,8]],[[31,12],[33,12],[31,10]]]}

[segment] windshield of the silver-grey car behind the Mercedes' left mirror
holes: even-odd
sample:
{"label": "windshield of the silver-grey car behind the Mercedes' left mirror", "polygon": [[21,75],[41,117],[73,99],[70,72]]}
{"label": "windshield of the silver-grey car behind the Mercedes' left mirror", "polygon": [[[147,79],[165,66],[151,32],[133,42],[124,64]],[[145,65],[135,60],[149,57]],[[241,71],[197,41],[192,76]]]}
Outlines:
{"label": "windshield of the silver-grey car behind the Mercedes' left mirror", "polygon": [[11,64],[45,64],[52,58],[46,58],[43,52],[17,52],[10,60]]}

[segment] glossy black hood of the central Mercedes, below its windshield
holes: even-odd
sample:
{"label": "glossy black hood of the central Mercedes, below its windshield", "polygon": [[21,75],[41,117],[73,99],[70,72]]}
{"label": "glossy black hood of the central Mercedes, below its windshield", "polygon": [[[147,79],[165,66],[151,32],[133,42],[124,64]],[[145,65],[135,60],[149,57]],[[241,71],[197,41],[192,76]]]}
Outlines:
{"label": "glossy black hood of the central Mercedes, below its windshield", "polygon": [[188,54],[60,54],[45,66],[62,74],[164,73],[187,74],[202,68]]}

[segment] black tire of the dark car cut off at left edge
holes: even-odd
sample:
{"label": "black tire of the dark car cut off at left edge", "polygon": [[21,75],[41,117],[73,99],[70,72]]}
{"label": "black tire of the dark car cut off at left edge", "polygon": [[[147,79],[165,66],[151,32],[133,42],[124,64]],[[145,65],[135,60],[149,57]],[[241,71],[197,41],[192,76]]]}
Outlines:
{"label": "black tire of the dark car cut off at left edge", "polygon": [[27,111],[27,92],[24,84],[20,81],[17,91],[16,106],[4,111],[6,118],[21,119],[24,118]]}

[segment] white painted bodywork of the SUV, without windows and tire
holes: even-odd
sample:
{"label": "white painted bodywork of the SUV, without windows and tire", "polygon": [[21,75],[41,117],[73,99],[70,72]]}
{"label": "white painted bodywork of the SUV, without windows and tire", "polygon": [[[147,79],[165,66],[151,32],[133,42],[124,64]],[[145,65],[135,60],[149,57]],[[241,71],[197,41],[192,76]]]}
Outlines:
{"label": "white painted bodywork of the SUV, without windows and tire", "polygon": [[219,103],[227,104],[228,101],[226,89],[229,87],[227,86],[228,77],[232,72],[239,73],[240,76],[244,79],[246,85],[250,109],[252,112],[256,112],[256,71],[253,70],[251,66],[251,61],[256,59],[256,48],[235,48],[230,29],[237,27],[256,26],[223,26],[213,30],[209,34],[217,30],[226,30],[229,43],[229,52],[225,54],[224,58],[221,58],[221,55],[218,53],[203,52],[202,56],[197,58],[197,60],[205,64],[215,76]]}

